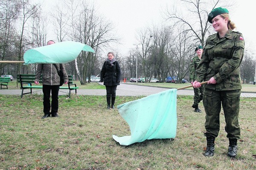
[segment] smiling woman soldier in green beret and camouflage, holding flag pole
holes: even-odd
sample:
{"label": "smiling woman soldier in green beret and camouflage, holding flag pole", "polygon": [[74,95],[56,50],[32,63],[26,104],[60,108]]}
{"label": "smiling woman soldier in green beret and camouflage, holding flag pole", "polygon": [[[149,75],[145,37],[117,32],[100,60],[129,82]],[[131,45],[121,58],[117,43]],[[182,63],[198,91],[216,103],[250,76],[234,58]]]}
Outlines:
{"label": "smiling woman soldier in green beret and camouflage, holding flag pole", "polygon": [[216,34],[207,38],[201,62],[196,69],[198,79],[193,87],[200,87],[200,82],[209,80],[204,85],[204,110],[206,112],[204,136],[207,138],[205,156],[213,156],[215,138],[220,130],[221,105],[225,116],[225,131],[229,139],[227,156],[237,154],[237,140],[240,139],[239,103],[241,78],[239,66],[244,56],[244,38],[231,22],[226,8],[215,8],[208,15],[209,23]]}

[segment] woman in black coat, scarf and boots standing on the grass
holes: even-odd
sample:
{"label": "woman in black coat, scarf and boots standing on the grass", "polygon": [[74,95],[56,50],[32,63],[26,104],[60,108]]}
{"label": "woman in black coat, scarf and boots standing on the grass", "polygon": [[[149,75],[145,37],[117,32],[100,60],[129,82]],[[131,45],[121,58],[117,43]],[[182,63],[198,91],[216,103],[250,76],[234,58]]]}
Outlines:
{"label": "woman in black coat, scarf and boots standing on the grass", "polygon": [[100,72],[100,82],[106,87],[108,109],[114,109],[116,100],[116,87],[120,85],[121,70],[113,52],[108,52],[108,59],[104,62]]}

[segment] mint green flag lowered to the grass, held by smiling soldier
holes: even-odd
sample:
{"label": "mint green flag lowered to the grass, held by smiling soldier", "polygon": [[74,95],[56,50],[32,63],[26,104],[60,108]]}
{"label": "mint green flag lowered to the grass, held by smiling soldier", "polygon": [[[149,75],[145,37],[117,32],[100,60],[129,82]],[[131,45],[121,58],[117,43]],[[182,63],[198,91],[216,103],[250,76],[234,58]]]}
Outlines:
{"label": "mint green flag lowered to the grass, held by smiling soldier", "polygon": [[171,139],[177,129],[177,89],[162,91],[142,99],[118,105],[117,109],[128,123],[131,136],[113,139],[121,145],[146,139]]}

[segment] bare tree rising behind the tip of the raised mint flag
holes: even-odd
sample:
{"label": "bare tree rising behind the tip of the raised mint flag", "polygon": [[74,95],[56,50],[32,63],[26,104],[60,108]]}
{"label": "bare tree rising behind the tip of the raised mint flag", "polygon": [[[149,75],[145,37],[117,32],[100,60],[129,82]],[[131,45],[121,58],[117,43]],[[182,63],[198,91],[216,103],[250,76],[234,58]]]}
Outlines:
{"label": "bare tree rising behind the tip of the raised mint flag", "polygon": [[97,16],[94,6],[89,7],[88,4],[84,3],[80,13],[81,18],[78,25],[79,36],[77,40],[90,45],[96,51],[95,54],[83,52],[78,57],[78,69],[82,73],[79,79],[81,84],[84,84],[88,73],[90,80],[96,59],[99,57],[99,51],[108,47],[110,42],[117,42],[117,39],[113,34],[113,25],[102,16]]}

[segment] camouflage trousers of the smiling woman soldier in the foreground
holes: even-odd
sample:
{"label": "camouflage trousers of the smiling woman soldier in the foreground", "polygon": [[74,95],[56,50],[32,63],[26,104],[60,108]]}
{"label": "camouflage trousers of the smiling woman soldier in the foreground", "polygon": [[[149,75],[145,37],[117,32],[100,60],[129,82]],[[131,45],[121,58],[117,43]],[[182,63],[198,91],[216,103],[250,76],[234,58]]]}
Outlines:
{"label": "camouflage trousers of the smiling woman soldier in the foreground", "polygon": [[225,117],[227,138],[240,139],[239,103],[241,90],[214,91],[204,89],[204,110],[206,112],[206,133],[204,136],[217,137],[220,130],[221,105]]}

